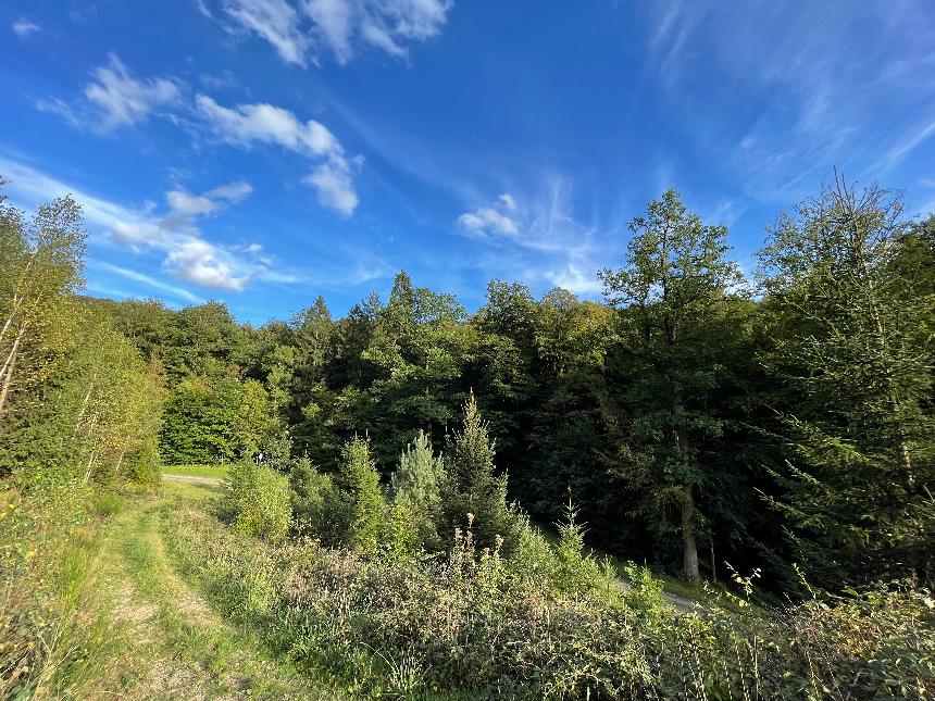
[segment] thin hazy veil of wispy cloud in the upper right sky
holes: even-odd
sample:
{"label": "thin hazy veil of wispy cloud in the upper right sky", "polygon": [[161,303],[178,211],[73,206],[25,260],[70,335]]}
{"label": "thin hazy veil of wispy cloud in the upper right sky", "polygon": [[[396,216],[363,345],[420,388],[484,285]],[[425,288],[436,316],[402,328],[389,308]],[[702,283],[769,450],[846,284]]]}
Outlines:
{"label": "thin hazy veil of wispy cloud in the upper right sky", "polygon": [[923,67],[935,48],[919,32],[928,4],[663,1],[650,11],[648,65],[748,193],[787,201],[833,165],[878,177],[931,135],[931,117],[918,122],[935,113]]}

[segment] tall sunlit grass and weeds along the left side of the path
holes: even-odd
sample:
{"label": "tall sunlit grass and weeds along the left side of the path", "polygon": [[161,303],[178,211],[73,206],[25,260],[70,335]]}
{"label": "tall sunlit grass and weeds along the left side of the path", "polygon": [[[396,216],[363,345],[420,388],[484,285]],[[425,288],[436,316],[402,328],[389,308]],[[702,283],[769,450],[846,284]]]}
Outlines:
{"label": "tall sunlit grass and weeds along the left side of the path", "polygon": [[101,517],[122,500],[65,485],[0,492],[0,699],[94,698],[122,646],[99,599]]}

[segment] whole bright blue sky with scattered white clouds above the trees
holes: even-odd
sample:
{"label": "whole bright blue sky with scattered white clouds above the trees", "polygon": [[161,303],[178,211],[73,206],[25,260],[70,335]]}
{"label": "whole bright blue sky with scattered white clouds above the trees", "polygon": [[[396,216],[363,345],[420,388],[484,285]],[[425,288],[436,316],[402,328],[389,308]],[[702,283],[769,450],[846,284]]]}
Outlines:
{"label": "whole bright blue sky with scattered white clouds above the trees", "polygon": [[14,0],[0,47],[7,193],[73,192],[116,299],[598,297],[670,186],[749,271],[834,166],[935,210],[931,0]]}

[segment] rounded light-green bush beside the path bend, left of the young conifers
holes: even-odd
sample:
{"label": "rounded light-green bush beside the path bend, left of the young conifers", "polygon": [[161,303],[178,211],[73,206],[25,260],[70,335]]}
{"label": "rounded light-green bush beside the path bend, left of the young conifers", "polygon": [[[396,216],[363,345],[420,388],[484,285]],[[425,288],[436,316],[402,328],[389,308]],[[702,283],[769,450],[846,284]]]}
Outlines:
{"label": "rounded light-green bush beside the path bend, left of the young conifers", "polygon": [[271,542],[283,540],[292,521],[289,483],[284,475],[252,461],[227,472],[228,506],[240,533]]}

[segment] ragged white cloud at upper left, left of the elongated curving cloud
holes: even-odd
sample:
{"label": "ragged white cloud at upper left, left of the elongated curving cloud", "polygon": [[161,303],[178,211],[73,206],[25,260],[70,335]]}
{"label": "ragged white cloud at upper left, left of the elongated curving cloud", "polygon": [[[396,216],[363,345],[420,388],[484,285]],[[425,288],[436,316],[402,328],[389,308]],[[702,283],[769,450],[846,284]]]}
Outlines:
{"label": "ragged white cloud at upper left, left of the elongated curving cloud", "polygon": [[59,114],[74,126],[111,132],[145,122],[160,108],[177,107],[180,101],[182,90],[174,80],[137,79],[111,53],[108,64],[95,70],[94,79],[85,87],[84,100],[75,104],[60,99],[42,100],[36,107]]}

